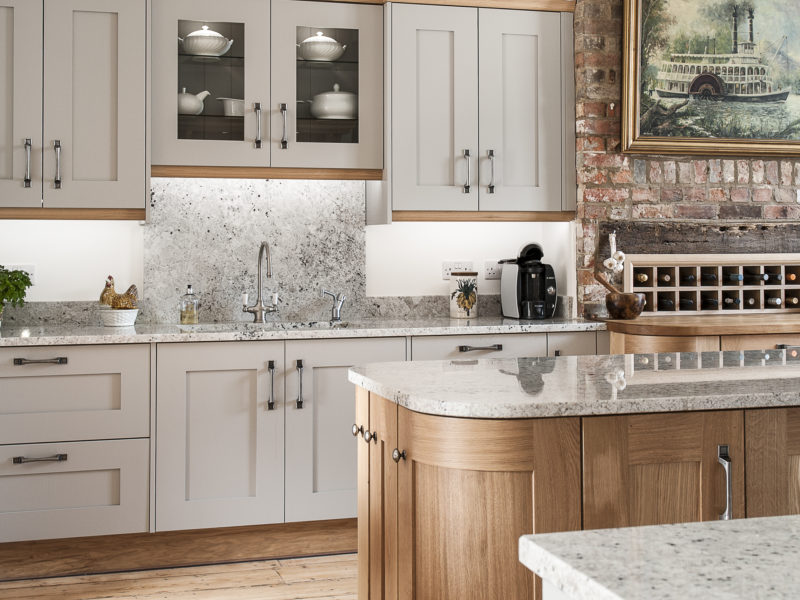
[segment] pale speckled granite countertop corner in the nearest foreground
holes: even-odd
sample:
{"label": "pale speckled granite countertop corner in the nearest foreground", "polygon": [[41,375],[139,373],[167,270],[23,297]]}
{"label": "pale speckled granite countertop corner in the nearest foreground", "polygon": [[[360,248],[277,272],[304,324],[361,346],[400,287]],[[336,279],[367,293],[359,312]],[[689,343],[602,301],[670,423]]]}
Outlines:
{"label": "pale speckled granite countertop corner in the nearest foreground", "polygon": [[794,600],[800,516],[526,535],[519,557],[570,600]]}

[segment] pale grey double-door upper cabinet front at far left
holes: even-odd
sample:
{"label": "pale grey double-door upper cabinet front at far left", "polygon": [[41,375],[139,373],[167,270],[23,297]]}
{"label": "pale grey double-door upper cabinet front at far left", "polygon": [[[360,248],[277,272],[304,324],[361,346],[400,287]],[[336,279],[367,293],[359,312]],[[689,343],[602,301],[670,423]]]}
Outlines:
{"label": "pale grey double-door upper cabinet front at far left", "polygon": [[144,207],[146,8],[0,0],[0,205]]}

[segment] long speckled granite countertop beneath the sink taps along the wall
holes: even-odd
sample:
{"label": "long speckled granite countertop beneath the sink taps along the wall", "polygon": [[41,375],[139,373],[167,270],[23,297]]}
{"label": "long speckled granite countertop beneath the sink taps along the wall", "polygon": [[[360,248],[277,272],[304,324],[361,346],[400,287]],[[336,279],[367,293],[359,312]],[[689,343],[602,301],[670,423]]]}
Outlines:
{"label": "long speckled granite countertop beneath the sink taps along the wall", "polygon": [[135,327],[30,327],[0,328],[2,346],[63,346],[72,344],[141,344],[151,342],[229,342],[239,340],[396,337],[413,335],[466,335],[489,333],[546,333],[605,329],[596,321],[546,319],[518,321],[477,319],[424,319],[419,321],[345,321],[287,323],[209,323],[200,325],[137,325]]}

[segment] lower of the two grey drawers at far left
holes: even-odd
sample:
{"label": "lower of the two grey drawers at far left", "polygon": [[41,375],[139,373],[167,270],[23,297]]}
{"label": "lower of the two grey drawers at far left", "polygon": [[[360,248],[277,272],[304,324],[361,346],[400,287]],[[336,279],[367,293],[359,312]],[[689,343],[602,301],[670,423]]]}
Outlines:
{"label": "lower of the two grey drawers at far left", "polygon": [[[148,528],[150,441],[0,446],[0,542]],[[65,455],[15,464],[14,457]]]}

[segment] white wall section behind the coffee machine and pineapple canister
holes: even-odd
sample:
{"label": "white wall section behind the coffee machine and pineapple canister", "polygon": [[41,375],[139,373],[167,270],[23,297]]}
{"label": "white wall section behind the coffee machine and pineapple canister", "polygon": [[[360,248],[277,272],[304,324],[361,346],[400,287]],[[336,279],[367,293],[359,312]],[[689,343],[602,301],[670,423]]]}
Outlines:
{"label": "white wall section behind the coffee machine and pineapple canister", "polygon": [[483,279],[484,263],[517,256],[525,244],[542,246],[559,295],[575,296],[573,223],[393,223],[367,227],[367,296],[445,294],[442,261],[471,260],[478,291],[499,294],[500,281]]}

